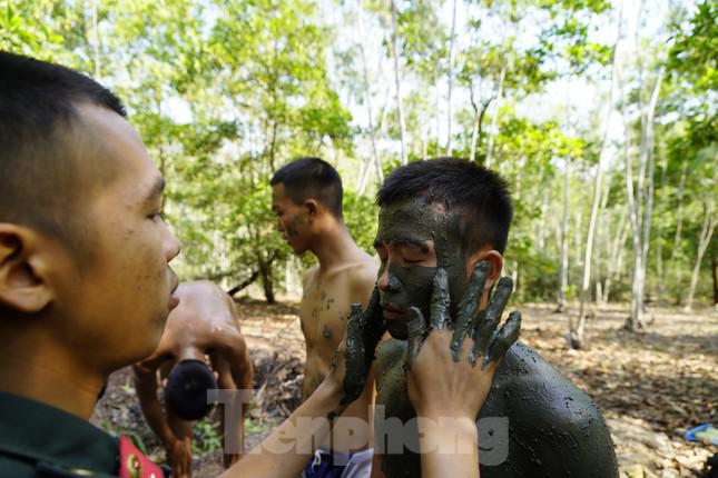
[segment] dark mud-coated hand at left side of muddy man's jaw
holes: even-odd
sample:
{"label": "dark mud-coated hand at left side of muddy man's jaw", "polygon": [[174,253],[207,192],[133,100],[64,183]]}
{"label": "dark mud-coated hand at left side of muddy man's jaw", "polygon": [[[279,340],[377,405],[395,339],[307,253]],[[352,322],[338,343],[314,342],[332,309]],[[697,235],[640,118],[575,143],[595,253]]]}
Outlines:
{"label": "dark mud-coated hand at left side of muddy man's jaw", "polygon": [[366,310],[362,310],[360,303],[352,303],[352,312],[346,325],[342,405],[348,405],[362,395],[375,357],[376,345],[385,330],[386,323],[380,306],[378,289],[374,287]]}

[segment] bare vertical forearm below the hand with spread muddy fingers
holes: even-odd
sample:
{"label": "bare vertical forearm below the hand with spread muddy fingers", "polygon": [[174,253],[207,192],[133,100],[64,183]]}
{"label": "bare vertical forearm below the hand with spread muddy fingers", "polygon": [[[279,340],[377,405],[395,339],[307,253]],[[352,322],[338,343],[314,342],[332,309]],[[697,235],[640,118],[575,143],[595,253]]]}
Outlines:
{"label": "bare vertical forearm below the hand with spread muddy fingers", "polygon": [[479,432],[466,417],[417,420],[422,478],[479,478]]}

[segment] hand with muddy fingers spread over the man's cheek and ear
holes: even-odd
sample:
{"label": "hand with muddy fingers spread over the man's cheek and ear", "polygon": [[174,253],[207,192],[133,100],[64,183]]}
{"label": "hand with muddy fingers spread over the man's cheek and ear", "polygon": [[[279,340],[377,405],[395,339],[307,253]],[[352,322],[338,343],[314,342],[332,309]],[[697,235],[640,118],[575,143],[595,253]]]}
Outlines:
{"label": "hand with muddy fingers spread over the man's cheek and ear", "polygon": [[404,368],[409,398],[417,412],[475,417],[489,394],[498,362],[519,338],[520,312],[511,312],[499,327],[511,297],[511,279],[499,280],[489,305],[480,310],[490,271],[488,262],[476,265],[453,321],[444,269],[437,269],[434,278],[430,320],[417,308],[411,308]]}

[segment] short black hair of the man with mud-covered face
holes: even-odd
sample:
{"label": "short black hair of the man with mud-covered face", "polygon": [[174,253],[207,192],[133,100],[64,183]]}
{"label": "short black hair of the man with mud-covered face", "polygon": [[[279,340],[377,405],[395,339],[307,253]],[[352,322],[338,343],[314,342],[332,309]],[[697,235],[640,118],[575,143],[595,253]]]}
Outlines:
{"label": "short black hair of the man with mud-covered face", "polygon": [[388,206],[419,196],[462,215],[462,235],[472,250],[486,245],[501,253],[505,250],[513,207],[506,181],[498,173],[459,158],[410,162],[386,178],[376,203]]}

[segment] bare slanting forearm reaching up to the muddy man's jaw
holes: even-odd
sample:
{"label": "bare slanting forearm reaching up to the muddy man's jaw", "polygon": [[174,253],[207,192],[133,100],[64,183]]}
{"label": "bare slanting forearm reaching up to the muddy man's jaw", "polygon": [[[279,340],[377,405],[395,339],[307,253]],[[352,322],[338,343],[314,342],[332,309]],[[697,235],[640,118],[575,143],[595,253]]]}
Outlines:
{"label": "bare slanting forearm reaching up to the muddy man's jaw", "polygon": [[332,414],[340,415],[341,386],[325,380],[281,426],[240,461],[225,471],[225,478],[296,478],[315,447],[331,431]]}

